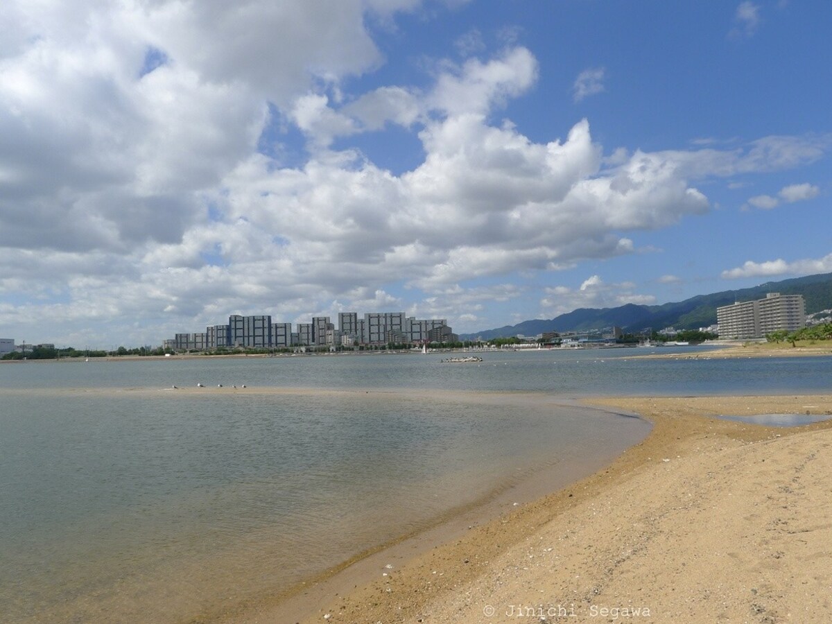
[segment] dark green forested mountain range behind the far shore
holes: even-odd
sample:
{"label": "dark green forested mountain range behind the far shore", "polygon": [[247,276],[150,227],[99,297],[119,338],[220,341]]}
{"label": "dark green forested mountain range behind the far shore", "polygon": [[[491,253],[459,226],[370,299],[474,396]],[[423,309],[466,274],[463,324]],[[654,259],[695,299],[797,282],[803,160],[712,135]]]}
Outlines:
{"label": "dark green forested mountain range behind the far shore", "polygon": [[803,295],[806,314],[832,308],[832,273],[807,275],[792,280],[766,282],[741,290],[723,290],[712,295],[696,295],[677,303],[664,305],[620,305],[617,308],[579,308],[554,319],[524,320],[516,325],[484,329],[473,334],[460,334],[461,340],[508,338],[518,334],[536,336],[543,332],[559,334],[571,331],[590,331],[612,326],[625,333],[636,334],[644,329],[699,329],[716,324],[716,309],[736,301],[763,299],[766,294]]}

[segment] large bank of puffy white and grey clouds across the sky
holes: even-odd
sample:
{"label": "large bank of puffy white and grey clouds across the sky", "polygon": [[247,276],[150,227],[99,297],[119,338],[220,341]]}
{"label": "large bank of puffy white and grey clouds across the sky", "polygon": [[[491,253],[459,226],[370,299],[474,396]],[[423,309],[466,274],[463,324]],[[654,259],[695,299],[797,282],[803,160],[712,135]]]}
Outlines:
{"label": "large bank of puffy white and grey clouds across the sky", "polygon": [[[234,312],[371,305],[473,324],[517,272],[630,255],[632,233],[705,214],[698,181],[825,152],[769,136],[611,159],[586,119],[533,141],[499,115],[537,58],[477,37],[418,87],[355,87],[384,66],[373,28],[428,4],[5,2],[0,326],[138,344]],[[603,88],[587,72],[577,100]],[[389,129],[418,141],[409,171],[353,142]]]}

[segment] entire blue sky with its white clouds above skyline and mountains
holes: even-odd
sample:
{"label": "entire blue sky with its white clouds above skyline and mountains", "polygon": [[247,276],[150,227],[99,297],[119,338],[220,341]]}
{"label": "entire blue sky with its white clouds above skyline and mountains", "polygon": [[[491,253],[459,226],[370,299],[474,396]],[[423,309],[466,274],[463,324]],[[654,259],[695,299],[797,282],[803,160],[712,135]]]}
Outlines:
{"label": "entire blue sky with its white clouds above skyline and mountains", "polygon": [[832,271],[830,2],[0,7],[0,335],[460,333]]}

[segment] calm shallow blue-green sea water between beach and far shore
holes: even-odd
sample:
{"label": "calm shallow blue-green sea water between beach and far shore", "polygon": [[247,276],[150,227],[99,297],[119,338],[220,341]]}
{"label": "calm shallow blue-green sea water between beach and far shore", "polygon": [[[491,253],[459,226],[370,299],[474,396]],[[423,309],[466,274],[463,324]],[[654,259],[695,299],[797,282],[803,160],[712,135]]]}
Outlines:
{"label": "calm shallow blue-green sea water between beach and far shore", "polygon": [[0,620],[210,614],[648,430],[575,397],[832,379],[825,358],[644,352],[0,365]]}

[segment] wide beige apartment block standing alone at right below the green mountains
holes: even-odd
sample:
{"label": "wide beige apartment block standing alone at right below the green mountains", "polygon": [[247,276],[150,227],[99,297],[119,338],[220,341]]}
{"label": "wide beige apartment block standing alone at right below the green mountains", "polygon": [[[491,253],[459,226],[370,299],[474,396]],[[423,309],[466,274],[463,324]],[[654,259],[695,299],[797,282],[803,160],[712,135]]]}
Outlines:
{"label": "wide beige apartment block standing alone at right below the green mountains", "polygon": [[803,295],[769,293],[765,299],[740,301],[716,309],[720,338],[764,338],[773,331],[795,331],[806,326]]}

